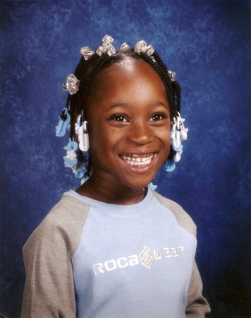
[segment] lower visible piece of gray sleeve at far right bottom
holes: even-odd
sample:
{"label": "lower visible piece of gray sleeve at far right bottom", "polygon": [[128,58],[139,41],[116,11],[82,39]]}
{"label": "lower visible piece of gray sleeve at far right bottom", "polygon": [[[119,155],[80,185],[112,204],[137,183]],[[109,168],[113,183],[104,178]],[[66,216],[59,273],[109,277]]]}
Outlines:
{"label": "lower visible piece of gray sleeve at far right bottom", "polygon": [[196,262],[193,263],[192,276],[188,288],[185,317],[203,318],[210,312],[207,300],[202,296],[202,280]]}

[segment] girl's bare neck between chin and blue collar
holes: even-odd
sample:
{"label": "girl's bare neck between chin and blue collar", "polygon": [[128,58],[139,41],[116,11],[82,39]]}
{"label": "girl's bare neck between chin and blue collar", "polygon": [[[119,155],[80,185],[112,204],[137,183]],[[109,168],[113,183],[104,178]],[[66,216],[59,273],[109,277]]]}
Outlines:
{"label": "girl's bare neck between chin and blue collar", "polygon": [[132,189],[93,174],[76,190],[78,194],[109,204],[137,204],[145,197],[144,189]]}

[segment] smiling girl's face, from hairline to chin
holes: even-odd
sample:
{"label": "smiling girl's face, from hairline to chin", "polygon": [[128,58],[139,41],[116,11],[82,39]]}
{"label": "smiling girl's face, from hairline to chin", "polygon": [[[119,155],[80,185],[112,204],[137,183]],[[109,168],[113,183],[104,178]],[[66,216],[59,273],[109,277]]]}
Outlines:
{"label": "smiling girl's face, from hairline to chin", "polygon": [[142,189],[170,151],[170,114],[164,83],[152,66],[127,59],[97,78],[87,102],[95,175]]}

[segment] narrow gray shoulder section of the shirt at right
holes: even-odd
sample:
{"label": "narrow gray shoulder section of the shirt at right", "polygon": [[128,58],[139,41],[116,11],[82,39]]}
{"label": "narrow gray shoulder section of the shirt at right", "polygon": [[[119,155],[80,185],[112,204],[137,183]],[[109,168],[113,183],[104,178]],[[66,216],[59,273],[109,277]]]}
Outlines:
{"label": "narrow gray shoulder section of the shirt at right", "polygon": [[179,204],[169,199],[166,199],[164,196],[161,196],[161,194],[158,194],[157,192],[153,192],[153,196],[157,199],[161,206],[164,206],[173,213],[181,228],[187,230],[196,237],[197,227],[195,223],[193,222],[192,218],[188,215],[188,213],[186,213]]}

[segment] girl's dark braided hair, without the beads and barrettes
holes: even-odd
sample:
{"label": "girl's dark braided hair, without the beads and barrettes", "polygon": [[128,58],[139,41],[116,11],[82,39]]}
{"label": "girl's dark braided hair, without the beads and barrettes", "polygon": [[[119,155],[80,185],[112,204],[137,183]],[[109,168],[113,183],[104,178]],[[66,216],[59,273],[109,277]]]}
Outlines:
{"label": "girl's dark braided hair, without the beads and barrettes", "polygon": [[[102,73],[102,71],[108,69],[109,66],[119,64],[121,61],[128,58],[137,61],[145,61],[159,74],[159,77],[166,88],[171,119],[178,116],[177,112],[180,112],[180,85],[176,81],[171,81],[168,69],[156,51],[154,51],[150,57],[146,53],[138,54],[133,48],[128,49],[125,52],[116,51],[116,53],[111,56],[106,52],[102,53],[101,56],[94,53],[87,61],[82,57],[75,69],[74,75],[80,81],[79,90],[74,95],[69,94],[66,103],[66,107],[68,107],[69,113],[71,114],[71,136],[73,136],[74,133],[73,114],[75,112],[78,114],[82,113],[82,119],[85,120],[87,115],[87,98],[99,94],[96,85],[97,83],[94,80]],[[172,159],[175,153],[176,152],[171,148],[168,159]],[[91,160],[89,160],[87,175],[90,175],[91,165]]]}

